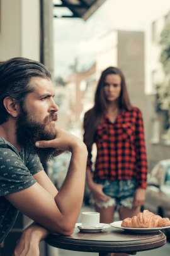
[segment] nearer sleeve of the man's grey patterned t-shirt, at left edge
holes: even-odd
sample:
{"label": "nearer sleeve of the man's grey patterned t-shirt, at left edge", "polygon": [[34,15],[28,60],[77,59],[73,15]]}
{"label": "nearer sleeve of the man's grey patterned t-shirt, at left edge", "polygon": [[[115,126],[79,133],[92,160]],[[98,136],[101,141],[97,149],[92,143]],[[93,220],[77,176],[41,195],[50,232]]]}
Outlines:
{"label": "nearer sleeve of the man's grey patterned t-shirt, at left edge", "polygon": [[20,155],[9,148],[0,149],[0,197],[25,190],[35,182]]}

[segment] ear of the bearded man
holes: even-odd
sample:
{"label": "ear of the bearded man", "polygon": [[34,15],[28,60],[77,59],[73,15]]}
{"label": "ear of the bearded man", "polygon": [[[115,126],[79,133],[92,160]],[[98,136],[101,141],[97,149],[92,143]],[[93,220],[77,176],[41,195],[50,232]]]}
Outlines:
{"label": "ear of the bearded man", "polygon": [[16,118],[18,114],[20,114],[20,107],[18,104],[18,101],[12,97],[6,97],[4,98],[4,107],[6,108],[6,111],[13,116],[13,118]]}

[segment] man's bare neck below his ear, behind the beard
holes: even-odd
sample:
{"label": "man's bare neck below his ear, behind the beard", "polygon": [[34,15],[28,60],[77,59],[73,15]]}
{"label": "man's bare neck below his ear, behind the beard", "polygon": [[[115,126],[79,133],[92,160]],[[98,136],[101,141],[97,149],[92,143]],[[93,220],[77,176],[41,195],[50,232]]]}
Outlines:
{"label": "man's bare neck below his ear, behind the beard", "polygon": [[9,119],[9,121],[0,125],[0,137],[3,137],[5,140],[11,143],[18,150],[18,152],[21,151],[21,147],[18,145],[16,140],[16,125],[13,120]]}

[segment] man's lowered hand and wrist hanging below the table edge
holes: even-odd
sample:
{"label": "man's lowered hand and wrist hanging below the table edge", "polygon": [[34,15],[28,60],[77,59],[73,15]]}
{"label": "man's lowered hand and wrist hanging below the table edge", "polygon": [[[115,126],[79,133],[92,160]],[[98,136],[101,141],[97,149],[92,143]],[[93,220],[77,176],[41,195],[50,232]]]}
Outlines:
{"label": "man's lowered hand and wrist hanging below the table edge", "polygon": [[36,223],[31,224],[23,231],[20,239],[16,243],[13,256],[39,256],[39,243],[46,236],[49,231]]}

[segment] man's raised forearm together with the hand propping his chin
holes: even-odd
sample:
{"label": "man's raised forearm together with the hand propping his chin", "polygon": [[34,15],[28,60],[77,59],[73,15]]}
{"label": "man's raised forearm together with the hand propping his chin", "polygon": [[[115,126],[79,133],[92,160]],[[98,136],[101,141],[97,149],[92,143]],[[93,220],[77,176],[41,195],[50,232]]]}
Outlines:
{"label": "man's raised forearm together with the hand propping his chin", "polygon": [[[86,145],[77,137],[64,130],[57,129],[57,137],[54,140],[40,141],[38,147],[54,147],[58,150],[72,153],[69,170],[59,193],[55,196],[56,216],[54,202],[52,212],[49,212],[47,223],[50,230],[62,235],[70,235],[81,210],[84,196],[86,164],[88,150]],[[50,198],[52,200],[52,198]],[[57,217],[57,219],[56,219]],[[45,219],[47,221],[47,219]],[[55,228],[51,224],[55,223]]]}

